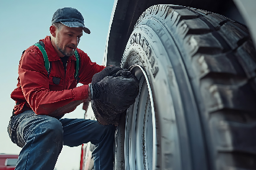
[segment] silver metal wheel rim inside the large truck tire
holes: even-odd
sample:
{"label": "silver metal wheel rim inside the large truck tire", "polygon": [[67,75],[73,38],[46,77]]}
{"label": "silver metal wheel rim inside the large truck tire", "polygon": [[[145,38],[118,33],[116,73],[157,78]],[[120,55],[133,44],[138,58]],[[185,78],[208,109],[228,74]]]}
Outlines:
{"label": "silver metal wheel rim inside the large truck tire", "polygon": [[147,74],[140,66],[132,66],[140,81],[140,93],[127,111],[125,134],[126,169],[152,169],[156,164],[156,128],[153,96]]}

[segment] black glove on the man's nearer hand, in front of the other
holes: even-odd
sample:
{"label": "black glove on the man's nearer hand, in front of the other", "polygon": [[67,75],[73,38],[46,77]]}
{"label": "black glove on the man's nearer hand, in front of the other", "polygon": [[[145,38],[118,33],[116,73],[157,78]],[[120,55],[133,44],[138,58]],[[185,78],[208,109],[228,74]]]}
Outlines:
{"label": "black glove on the man's nearer hand, in front of the other", "polygon": [[104,104],[111,104],[121,110],[129,108],[135,102],[139,93],[139,81],[133,74],[121,77],[104,77],[100,82],[91,83],[91,100],[101,100]]}

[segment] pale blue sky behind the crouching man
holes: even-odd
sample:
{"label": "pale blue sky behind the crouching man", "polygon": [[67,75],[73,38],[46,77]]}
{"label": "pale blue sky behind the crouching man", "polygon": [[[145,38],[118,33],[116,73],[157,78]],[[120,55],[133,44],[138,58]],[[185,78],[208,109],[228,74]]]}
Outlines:
{"label": "pale blue sky behind the crouching man", "polygon": [[[52,15],[57,9],[74,7],[81,12],[85,26],[91,30],[90,35],[83,34],[78,48],[85,51],[91,61],[101,64],[114,0],[0,2],[0,153],[18,155],[21,148],[11,142],[7,125],[15,104],[10,95],[17,85],[17,69],[22,51],[50,35]],[[83,118],[81,105],[65,117]],[[80,153],[81,147],[63,147],[57,161],[57,170],[79,169]]]}

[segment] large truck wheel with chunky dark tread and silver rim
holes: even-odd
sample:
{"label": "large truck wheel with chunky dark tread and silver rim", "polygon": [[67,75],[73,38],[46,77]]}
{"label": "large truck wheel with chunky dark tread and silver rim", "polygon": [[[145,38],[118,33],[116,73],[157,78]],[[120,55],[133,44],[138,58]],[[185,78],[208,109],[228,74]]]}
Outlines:
{"label": "large truck wheel with chunky dark tread and silver rim", "polygon": [[256,52],[244,25],[152,6],[121,66],[140,93],[117,127],[114,169],[256,169]]}

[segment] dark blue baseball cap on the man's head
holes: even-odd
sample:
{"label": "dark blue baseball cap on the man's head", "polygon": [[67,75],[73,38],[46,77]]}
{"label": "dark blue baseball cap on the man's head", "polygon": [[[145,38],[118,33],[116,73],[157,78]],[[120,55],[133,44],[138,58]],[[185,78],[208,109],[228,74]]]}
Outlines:
{"label": "dark blue baseball cap on the man's head", "polygon": [[91,31],[85,27],[83,15],[75,8],[63,7],[58,9],[52,16],[52,24],[61,22],[66,27],[83,27],[85,33]]}

